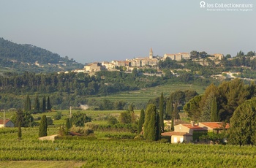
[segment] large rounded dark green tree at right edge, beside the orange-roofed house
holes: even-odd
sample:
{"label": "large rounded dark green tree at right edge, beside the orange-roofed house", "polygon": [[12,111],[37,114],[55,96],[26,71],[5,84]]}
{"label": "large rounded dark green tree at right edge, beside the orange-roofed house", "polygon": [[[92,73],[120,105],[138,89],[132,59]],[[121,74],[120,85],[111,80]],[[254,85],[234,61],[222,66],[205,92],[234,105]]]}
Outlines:
{"label": "large rounded dark green tree at right edge, beside the orange-roofed house", "polygon": [[236,108],[230,119],[230,144],[256,144],[256,99],[250,99]]}

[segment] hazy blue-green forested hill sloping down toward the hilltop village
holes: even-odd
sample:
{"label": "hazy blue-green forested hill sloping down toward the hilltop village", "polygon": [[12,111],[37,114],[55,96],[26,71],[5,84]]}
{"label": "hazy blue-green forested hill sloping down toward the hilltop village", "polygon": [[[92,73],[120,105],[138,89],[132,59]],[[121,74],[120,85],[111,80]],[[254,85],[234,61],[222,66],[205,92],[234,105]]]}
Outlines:
{"label": "hazy blue-green forested hill sloping down toward the hilltop village", "polygon": [[34,45],[20,45],[0,38],[0,72],[59,72],[83,68],[73,59]]}

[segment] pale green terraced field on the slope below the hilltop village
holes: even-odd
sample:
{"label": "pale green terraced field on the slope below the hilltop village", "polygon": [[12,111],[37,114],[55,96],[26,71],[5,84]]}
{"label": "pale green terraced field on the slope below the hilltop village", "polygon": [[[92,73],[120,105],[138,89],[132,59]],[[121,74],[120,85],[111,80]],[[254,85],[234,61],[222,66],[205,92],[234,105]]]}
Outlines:
{"label": "pale green terraced field on the slope below the hilltop village", "polygon": [[205,88],[198,85],[159,85],[153,88],[143,88],[138,91],[127,91],[116,93],[110,96],[94,97],[94,99],[109,99],[110,101],[123,100],[124,102],[146,103],[149,99],[154,99],[164,93],[164,96],[169,96],[174,91],[195,90],[198,94],[204,93]]}

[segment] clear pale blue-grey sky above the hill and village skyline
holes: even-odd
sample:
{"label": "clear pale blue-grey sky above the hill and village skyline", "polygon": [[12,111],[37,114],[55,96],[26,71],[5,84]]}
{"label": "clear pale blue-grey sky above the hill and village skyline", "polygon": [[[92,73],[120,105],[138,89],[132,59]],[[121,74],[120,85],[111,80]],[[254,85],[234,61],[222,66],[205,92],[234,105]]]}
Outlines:
{"label": "clear pale blue-grey sky above the hill and village skyline", "polygon": [[151,47],[154,56],[236,56],[256,50],[255,18],[254,0],[0,0],[0,37],[82,64],[146,57]]}

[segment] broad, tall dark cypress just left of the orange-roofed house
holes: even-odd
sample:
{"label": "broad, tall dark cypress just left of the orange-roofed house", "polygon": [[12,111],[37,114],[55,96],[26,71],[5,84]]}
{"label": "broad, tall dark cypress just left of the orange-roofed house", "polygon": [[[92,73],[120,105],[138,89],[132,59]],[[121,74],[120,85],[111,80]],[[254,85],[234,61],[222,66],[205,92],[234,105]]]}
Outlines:
{"label": "broad, tall dark cypress just left of the orange-roofed house", "polygon": [[151,141],[159,140],[160,130],[157,129],[159,129],[159,116],[157,114],[156,105],[148,104],[146,108],[143,137]]}

